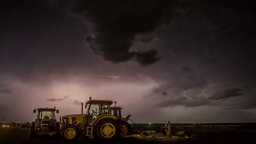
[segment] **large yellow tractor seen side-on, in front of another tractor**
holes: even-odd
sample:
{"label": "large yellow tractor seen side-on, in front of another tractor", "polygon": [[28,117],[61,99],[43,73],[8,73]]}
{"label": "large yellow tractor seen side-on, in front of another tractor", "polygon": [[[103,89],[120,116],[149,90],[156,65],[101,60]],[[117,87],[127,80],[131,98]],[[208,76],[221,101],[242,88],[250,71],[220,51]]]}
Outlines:
{"label": "large yellow tractor seen side-on, in front of another tractor", "polygon": [[120,135],[118,118],[111,114],[111,100],[86,102],[87,113],[62,116],[62,137],[66,141],[77,140],[80,134],[86,138],[113,140]]}

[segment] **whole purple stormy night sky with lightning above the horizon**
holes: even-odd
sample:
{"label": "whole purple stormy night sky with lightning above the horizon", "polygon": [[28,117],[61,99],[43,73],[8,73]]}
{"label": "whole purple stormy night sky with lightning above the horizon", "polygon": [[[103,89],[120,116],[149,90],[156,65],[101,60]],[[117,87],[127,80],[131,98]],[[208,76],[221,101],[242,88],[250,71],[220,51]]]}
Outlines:
{"label": "whole purple stormy night sky with lightning above the horizon", "polygon": [[1,122],[32,122],[37,107],[80,114],[90,94],[136,123],[256,122],[254,11],[244,0],[6,0]]}

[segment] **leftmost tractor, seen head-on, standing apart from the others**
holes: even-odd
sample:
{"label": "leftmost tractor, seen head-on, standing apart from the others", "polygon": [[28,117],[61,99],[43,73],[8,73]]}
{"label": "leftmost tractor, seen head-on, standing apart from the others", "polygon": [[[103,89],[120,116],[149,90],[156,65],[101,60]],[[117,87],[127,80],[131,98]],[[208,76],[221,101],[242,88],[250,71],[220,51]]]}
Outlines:
{"label": "leftmost tractor, seen head-on, standing apart from the others", "polygon": [[54,108],[38,108],[33,110],[33,113],[38,111],[35,122],[30,126],[30,138],[38,135],[52,135],[60,136],[60,122],[55,118],[55,112],[58,114],[59,110]]}

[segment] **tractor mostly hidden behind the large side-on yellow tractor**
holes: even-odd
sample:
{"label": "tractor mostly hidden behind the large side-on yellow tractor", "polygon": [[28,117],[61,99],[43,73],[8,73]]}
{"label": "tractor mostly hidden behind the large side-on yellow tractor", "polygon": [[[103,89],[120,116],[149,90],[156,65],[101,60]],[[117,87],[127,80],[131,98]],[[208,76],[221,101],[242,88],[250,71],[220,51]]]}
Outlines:
{"label": "tractor mostly hidden behind the large side-on yellow tractor", "polygon": [[116,106],[116,101],[115,101],[115,106],[110,107],[111,108],[111,114],[116,116],[118,118],[118,123],[119,123],[119,128],[120,128],[120,136],[124,137],[128,133],[132,132],[132,127],[128,123],[128,120],[130,118],[130,114],[124,118],[122,118],[122,113],[121,113],[121,107]]}

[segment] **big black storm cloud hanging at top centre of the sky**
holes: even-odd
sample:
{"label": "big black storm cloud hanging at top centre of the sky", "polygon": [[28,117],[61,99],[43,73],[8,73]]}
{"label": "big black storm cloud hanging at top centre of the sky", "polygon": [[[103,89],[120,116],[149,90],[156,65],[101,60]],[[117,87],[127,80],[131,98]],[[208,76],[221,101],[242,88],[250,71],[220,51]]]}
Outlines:
{"label": "big black storm cloud hanging at top centre of the sky", "polygon": [[95,24],[95,35],[86,38],[94,54],[113,63],[135,59],[142,66],[160,59],[156,50],[139,53],[129,49],[136,34],[152,32],[170,22],[174,1],[76,0],[74,5],[73,12]]}

